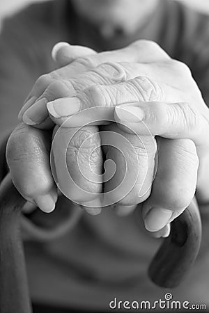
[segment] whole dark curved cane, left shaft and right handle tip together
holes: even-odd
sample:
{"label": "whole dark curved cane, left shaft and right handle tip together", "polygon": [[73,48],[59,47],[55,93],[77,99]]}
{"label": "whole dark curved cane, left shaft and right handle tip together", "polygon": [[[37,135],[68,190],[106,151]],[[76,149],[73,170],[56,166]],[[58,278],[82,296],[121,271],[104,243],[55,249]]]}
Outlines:
{"label": "whole dark curved cane, left shaft and right handle tip together", "polygon": [[[1,313],[31,313],[24,252],[20,237],[20,211],[24,198],[7,175],[0,186],[0,310]],[[162,287],[175,287],[183,279],[199,251],[201,219],[195,200],[171,223],[150,264],[149,275]]]}

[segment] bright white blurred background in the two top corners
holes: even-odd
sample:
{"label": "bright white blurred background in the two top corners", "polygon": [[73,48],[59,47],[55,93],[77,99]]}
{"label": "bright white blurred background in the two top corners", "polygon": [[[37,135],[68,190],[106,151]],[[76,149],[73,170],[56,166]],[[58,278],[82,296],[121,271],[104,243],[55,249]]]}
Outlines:
{"label": "bright white blurred background in the two top corners", "polygon": [[[10,15],[29,3],[45,0],[0,0],[0,24],[4,16]],[[169,1],[169,0],[163,0]],[[178,0],[185,2],[188,6],[193,6],[197,10],[209,14],[209,0]]]}

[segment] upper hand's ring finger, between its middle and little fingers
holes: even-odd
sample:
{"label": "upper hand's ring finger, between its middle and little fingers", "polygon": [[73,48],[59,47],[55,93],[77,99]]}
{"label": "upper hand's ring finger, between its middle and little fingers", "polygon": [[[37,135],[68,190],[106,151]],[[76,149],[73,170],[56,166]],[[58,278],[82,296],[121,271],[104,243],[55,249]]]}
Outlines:
{"label": "upper hand's ring finger, between its middle and little fingers", "polygon": [[[53,81],[49,84],[49,86],[38,99],[35,98],[35,102],[31,104],[29,101],[30,106],[26,111],[24,111],[22,120],[27,125],[37,125],[37,127],[40,128],[43,126],[41,124],[45,122],[45,119],[48,116],[46,108],[47,103],[52,104],[53,106],[53,100],[57,98],[64,98],[65,103],[68,97],[75,97],[79,90],[84,90],[97,84],[105,85],[107,83],[110,84],[113,81],[124,81],[126,79],[131,79],[137,75],[140,67],[141,65],[134,64],[123,66],[119,65],[118,63],[104,63],[99,67],[96,67],[94,70],[80,75],[77,74],[76,79],[60,79],[59,81]],[[88,93],[91,93],[91,90],[88,90]],[[72,99],[72,101],[73,100],[76,100],[76,98]],[[60,109],[62,109],[61,104],[59,104]],[[26,104],[26,106],[27,105],[28,104]],[[76,113],[75,109],[77,108],[74,108],[75,105],[75,103],[72,105],[67,105],[68,113],[71,107],[72,110],[70,113]],[[65,111],[63,113],[65,113]]]}

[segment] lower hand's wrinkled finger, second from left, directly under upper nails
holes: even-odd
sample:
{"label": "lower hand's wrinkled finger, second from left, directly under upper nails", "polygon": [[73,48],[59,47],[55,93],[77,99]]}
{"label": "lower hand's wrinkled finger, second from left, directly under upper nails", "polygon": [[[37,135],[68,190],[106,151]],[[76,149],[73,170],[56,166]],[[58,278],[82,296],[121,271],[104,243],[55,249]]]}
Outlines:
{"label": "lower hand's wrinkled finger, second from left, directly under upper nails", "polygon": [[100,208],[103,159],[98,128],[60,127],[52,151],[60,191],[82,207]]}

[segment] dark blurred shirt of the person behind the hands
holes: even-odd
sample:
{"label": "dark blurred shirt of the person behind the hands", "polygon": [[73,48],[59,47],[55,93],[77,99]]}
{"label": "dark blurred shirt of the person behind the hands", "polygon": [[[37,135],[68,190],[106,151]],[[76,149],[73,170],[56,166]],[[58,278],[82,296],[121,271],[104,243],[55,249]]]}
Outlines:
{"label": "dark blurred shirt of the person behind the hands", "polygon": [[[53,45],[67,41],[96,51],[117,49],[134,40],[157,42],[185,62],[209,102],[209,19],[176,1],[160,1],[157,10],[131,35],[104,39],[98,29],[75,12],[70,0],[33,4],[5,20],[0,38],[1,136],[17,125],[17,113],[36,79],[54,70]],[[109,302],[150,300],[171,292],[173,300],[209,305],[207,210],[202,211],[203,241],[199,257],[180,287],[156,287],[147,268],[161,239],[139,225],[137,211],[127,217],[111,209],[99,216],[82,213],[73,230],[54,238],[54,228],[70,218],[70,200],[62,196],[52,214],[36,210],[22,216],[29,290],[33,301],[107,312]],[[70,225],[70,223],[69,223]],[[70,226],[69,226],[70,227]],[[67,227],[68,228],[68,227]],[[51,240],[41,233],[50,232]],[[26,236],[25,236],[26,235]],[[171,256],[172,257],[172,256]]]}

